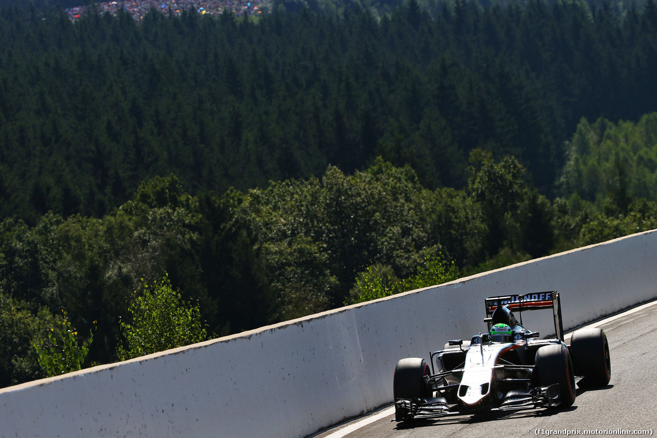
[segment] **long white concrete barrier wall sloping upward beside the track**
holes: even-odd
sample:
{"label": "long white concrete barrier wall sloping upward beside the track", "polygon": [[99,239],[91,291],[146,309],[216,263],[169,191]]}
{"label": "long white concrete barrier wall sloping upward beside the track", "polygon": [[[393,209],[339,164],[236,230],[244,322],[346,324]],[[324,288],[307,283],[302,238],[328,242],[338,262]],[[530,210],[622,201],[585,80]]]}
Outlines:
{"label": "long white concrete barrier wall sloping upward beside the track", "polygon": [[[556,289],[564,328],[574,328],[657,297],[656,264],[650,231],[0,389],[0,437],[306,437],[392,402],[400,358],[428,358],[447,339],[486,330],[489,295]],[[553,333],[549,312],[525,316]]]}

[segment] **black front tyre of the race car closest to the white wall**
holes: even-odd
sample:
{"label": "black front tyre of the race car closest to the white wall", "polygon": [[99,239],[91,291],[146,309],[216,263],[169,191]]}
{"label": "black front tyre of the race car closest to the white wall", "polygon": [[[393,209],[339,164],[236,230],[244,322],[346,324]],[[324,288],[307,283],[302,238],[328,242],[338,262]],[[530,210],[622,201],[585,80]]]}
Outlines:
{"label": "black front tyre of the race car closest to the white wall", "polygon": [[[399,360],[392,383],[395,401],[431,397],[428,376],[429,366],[424,359],[411,357]],[[413,414],[409,409],[395,406],[395,420],[403,422],[412,419]]]}

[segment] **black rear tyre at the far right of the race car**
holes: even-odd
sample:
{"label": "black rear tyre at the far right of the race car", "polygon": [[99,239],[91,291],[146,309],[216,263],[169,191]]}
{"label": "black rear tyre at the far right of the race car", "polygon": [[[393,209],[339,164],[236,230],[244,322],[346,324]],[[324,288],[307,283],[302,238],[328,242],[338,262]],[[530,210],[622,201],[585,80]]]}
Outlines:
{"label": "black rear tyre at the far right of the race car", "polygon": [[606,386],[612,376],[609,343],[604,330],[585,328],[575,331],[570,338],[570,356],[576,376],[583,378],[580,387]]}

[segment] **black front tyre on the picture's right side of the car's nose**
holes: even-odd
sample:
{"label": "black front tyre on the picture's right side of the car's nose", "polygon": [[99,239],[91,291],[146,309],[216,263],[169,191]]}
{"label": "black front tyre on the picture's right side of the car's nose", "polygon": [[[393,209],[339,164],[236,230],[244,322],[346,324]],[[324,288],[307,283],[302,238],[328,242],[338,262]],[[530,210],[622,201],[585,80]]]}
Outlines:
{"label": "black front tyre on the picture's right side of the car's nose", "polygon": [[558,383],[559,408],[568,408],[575,402],[575,374],[570,354],[565,345],[546,345],[536,351],[535,384],[549,386]]}

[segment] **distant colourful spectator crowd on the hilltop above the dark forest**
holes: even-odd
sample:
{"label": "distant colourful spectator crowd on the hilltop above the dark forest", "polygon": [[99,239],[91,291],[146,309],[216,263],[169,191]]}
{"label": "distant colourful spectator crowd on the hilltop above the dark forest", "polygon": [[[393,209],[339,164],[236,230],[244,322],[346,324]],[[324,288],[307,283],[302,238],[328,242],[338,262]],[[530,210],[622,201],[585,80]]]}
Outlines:
{"label": "distant colourful spectator crowd on the hilltop above the dark forest", "polygon": [[[115,15],[119,9],[128,12],[135,20],[141,20],[151,8],[168,14],[180,15],[183,11],[196,11],[199,14],[218,15],[223,11],[231,11],[237,15],[255,15],[262,13],[262,7],[269,0],[112,0],[95,3],[99,12],[110,12]],[[84,16],[88,6],[78,6],[66,9],[71,20]]]}

